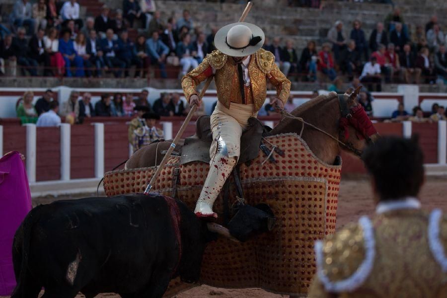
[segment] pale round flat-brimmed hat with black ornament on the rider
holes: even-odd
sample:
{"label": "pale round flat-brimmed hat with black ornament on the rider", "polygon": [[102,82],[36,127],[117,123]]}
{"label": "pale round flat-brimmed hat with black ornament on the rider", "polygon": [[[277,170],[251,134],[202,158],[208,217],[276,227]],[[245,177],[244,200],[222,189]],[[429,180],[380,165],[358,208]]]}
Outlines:
{"label": "pale round flat-brimmed hat with black ornament on the rider", "polygon": [[264,44],[261,28],[250,23],[232,23],[219,29],[214,45],[222,53],[232,57],[244,57],[256,53]]}

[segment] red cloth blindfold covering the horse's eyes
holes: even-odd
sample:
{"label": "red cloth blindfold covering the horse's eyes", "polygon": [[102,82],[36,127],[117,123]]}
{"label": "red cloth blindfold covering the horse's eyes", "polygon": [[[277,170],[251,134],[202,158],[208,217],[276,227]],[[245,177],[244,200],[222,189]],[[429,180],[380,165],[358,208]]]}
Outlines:
{"label": "red cloth blindfold covering the horse's eyes", "polygon": [[375,135],[377,131],[374,128],[373,122],[371,122],[370,117],[365,112],[365,109],[361,104],[351,109],[351,118],[341,118],[340,127],[344,130],[345,141],[349,138],[348,126],[351,125],[356,129],[357,137],[363,140],[367,137]]}

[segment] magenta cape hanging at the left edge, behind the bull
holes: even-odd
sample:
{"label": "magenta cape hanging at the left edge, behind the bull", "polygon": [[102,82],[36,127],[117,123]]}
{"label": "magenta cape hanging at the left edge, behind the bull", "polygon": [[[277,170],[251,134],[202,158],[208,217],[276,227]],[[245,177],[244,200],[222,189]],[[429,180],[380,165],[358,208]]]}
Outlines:
{"label": "magenta cape hanging at the left edge, behind the bull", "polygon": [[19,152],[9,152],[0,158],[0,296],[9,296],[15,287],[12,239],[30,210],[25,165]]}

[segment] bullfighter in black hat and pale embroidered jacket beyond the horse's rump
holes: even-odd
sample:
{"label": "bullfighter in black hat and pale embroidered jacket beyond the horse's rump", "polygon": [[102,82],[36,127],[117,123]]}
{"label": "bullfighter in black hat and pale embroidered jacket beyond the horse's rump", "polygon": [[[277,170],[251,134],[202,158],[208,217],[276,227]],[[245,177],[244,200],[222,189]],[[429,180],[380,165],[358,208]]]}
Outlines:
{"label": "bullfighter in black hat and pale embroidered jacket beyond the horse's rump", "polygon": [[156,121],[160,119],[160,116],[154,113],[145,113],[143,116],[145,121],[144,126],[134,130],[134,140],[132,146],[134,151],[149,145],[157,139],[163,138],[163,131],[155,126]]}

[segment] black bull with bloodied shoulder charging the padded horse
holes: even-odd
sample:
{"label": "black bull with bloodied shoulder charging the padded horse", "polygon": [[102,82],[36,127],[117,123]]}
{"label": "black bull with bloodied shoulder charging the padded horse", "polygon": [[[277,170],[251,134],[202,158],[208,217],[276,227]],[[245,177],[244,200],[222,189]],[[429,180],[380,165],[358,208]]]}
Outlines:
{"label": "black bull with bloodied shoulder charging the padded horse", "polygon": [[44,298],[71,298],[78,292],[87,298],[104,292],[156,298],[173,277],[198,281],[212,234],[180,201],[149,196],[85,198],[34,208],[15,233],[18,284],[11,298],[37,297],[42,287]]}

